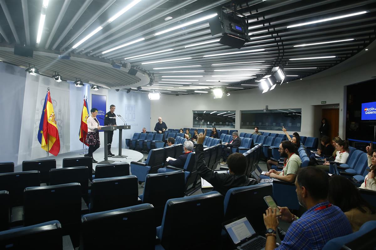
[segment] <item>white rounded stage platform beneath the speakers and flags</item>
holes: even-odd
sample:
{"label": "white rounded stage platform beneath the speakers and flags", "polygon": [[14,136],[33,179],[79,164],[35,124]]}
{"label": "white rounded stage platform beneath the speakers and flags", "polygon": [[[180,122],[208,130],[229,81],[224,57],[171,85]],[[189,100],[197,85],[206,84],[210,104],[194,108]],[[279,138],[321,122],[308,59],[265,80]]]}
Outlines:
{"label": "white rounded stage platform beneath the speakers and flags", "polygon": [[[104,159],[105,153],[103,153],[103,148],[98,148],[97,151],[94,152],[93,157],[95,160],[98,162],[101,162]],[[113,154],[118,153],[119,149],[118,148],[111,148],[111,152]],[[64,154],[58,154],[58,156],[54,156],[50,154],[49,159],[56,159],[56,168],[62,168],[62,163],[64,158],[74,158],[74,157],[83,157],[82,150],[77,150],[77,151],[71,151],[69,153],[64,153]],[[127,156],[126,158],[113,158],[113,157],[108,157],[108,160],[113,160],[114,163],[121,163],[125,162],[130,164],[130,162],[138,162],[141,161],[144,157],[144,155],[138,151],[135,150],[129,150],[122,148],[121,149],[121,154],[123,156]],[[39,159],[34,159],[34,160],[45,160],[47,157],[39,158]],[[100,164],[101,165],[101,164]],[[93,163],[93,169],[95,170],[95,167],[97,166],[97,163]],[[22,171],[22,165],[18,165],[14,167],[14,171]]]}

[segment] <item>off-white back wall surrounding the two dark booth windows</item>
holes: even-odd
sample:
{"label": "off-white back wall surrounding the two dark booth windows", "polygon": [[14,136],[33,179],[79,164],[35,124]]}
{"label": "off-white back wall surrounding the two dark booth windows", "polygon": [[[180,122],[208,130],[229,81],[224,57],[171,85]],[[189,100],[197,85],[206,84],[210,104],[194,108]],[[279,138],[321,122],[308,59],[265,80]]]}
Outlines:
{"label": "off-white back wall surrounding the two dark booth windows", "polygon": [[[353,60],[350,61],[351,59]],[[315,105],[321,105],[321,101],[326,101],[326,104],[339,103],[339,135],[341,138],[345,138],[345,86],[371,79],[371,76],[375,74],[376,60],[374,58],[372,61],[362,60],[362,55],[358,55],[341,64],[316,74],[314,77],[282,84],[265,94],[261,94],[258,88],[232,91],[230,96],[224,96],[222,99],[213,99],[212,94],[186,96],[162,94],[160,100],[151,101],[150,126],[154,126],[158,117],[161,116],[169,128],[192,127],[192,110],[235,110],[235,129],[240,132],[252,132],[253,130],[240,129],[240,111],[263,109],[265,105],[268,105],[269,109],[302,108],[300,135],[318,136],[321,107]]]}

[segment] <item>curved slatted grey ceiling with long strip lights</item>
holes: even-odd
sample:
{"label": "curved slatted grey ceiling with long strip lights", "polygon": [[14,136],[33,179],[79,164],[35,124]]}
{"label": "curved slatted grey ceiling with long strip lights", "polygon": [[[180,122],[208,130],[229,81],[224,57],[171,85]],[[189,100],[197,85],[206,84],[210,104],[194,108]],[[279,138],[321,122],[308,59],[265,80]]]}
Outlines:
{"label": "curved slatted grey ceiling with long strip lights", "polygon": [[[275,66],[284,67],[287,82],[304,78],[352,57],[376,35],[376,0],[46,2],[0,0],[0,60],[35,64],[43,75],[56,71],[65,80],[163,94],[257,88]],[[241,49],[211,36],[208,18],[220,11],[247,18],[250,41]],[[33,48],[33,58],[14,55],[15,44]],[[135,76],[127,63],[138,69]]]}

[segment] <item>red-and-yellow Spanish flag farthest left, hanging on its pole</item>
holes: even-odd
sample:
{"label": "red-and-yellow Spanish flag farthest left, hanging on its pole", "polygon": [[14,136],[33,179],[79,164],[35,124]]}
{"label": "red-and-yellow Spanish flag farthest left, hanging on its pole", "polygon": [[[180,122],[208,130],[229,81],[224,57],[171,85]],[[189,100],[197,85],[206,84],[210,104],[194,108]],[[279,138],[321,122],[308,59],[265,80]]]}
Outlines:
{"label": "red-and-yellow Spanish flag farthest left, hanging on its pole", "polygon": [[41,148],[57,156],[60,151],[59,131],[56,126],[55,112],[53,112],[50,91],[47,91],[44,99],[41,122],[39,123],[38,141]]}

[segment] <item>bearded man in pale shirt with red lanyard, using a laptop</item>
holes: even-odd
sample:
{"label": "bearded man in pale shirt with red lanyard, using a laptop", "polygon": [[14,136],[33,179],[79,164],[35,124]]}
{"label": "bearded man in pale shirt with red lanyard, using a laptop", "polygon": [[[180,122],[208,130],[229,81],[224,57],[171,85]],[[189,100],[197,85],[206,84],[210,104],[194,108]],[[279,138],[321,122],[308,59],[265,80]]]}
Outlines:
{"label": "bearded man in pale shirt with red lanyard, using a laptop", "polygon": [[294,144],[291,141],[283,141],[279,144],[279,153],[285,158],[285,165],[282,171],[271,169],[265,175],[281,181],[294,182],[296,172],[302,165],[302,160],[300,160],[300,157],[295,154]]}

